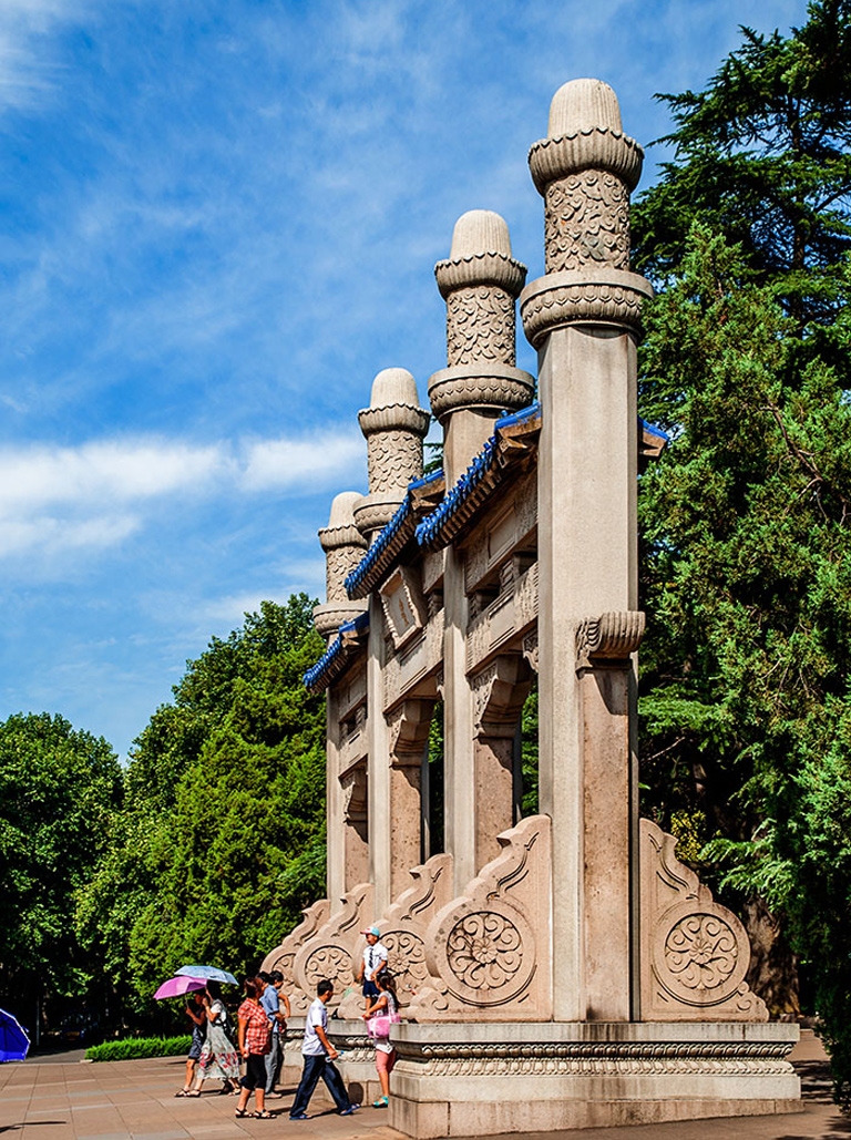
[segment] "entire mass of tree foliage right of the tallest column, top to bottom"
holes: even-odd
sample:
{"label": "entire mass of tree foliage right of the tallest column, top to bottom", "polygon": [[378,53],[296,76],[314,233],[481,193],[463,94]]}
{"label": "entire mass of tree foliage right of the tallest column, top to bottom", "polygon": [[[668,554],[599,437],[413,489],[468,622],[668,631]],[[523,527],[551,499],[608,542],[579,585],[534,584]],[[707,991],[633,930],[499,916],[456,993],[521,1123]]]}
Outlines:
{"label": "entire mass of tree foliage right of the tallest column, top to bottom", "polygon": [[775,926],[754,975],[775,1012],[797,1008],[789,943],[805,963],[845,1104],[850,14],[743,30],[706,91],[664,96],[675,157],[634,214],[658,288],[640,408],[671,434],[639,496],[643,806],[752,935]]}

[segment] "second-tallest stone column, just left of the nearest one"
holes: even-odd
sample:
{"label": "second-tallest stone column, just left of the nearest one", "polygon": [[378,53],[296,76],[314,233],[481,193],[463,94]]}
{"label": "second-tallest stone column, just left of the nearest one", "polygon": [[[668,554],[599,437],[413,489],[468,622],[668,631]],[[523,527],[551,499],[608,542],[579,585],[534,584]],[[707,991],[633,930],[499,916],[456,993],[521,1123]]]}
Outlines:
{"label": "second-tallest stone column, just left of the nearest one", "polygon": [[[429,380],[429,399],[444,429],[448,488],[481,450],[494,422],[506,410],[532,402],[535,381],[514,366],[514,299],[526,279],[526,267],[511,256],[505,220],[489,210],[462,214],[455,222],[449,256],[438,261],[435,276],[446,300],[448,366]],[[455,889],[461,891],[481,865],[478,797],[486,788],[502,788],[504,772],[499,749],[476,742],[467,676],[464,564],[453,547],[446,551],[444,597],[446,850],[453,855]],[[493,819],[493,813],[486,814]]]}

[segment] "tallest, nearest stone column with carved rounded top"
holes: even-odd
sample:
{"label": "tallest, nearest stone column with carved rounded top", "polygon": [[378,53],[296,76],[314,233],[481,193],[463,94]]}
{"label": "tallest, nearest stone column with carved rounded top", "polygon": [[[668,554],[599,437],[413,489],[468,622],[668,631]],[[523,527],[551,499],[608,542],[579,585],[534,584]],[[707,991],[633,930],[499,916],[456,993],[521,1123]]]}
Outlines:
{"label": "tallest, nearest stone column with carved rounded top", "polygon": [[538,351],[541,809],[553,830],[557,1020],[629,1020],[637,575],[635,343],[629,271],[642,150],[615,92],[574,80],[529,153],[546,275],[520,295]]}

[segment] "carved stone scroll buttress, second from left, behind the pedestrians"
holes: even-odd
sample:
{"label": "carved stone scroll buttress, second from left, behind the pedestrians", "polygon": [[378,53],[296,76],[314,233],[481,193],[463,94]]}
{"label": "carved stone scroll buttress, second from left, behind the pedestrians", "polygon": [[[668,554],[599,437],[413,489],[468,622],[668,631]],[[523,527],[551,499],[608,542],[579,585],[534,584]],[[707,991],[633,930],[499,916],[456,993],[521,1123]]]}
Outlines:
{"label": "carved stone scroll buttress, second from left, behind the pedestrians", "polygon": [[354,985],[355,951],[360,930],[373,921],[372,898],[370,882],[349,890],[341,899],[341,909],[299,947],[292,967],[293,979],[309,1001],[316,996],[317,983],[324,978],[334,983],[333,1005],[340,1002],[347,986]]}

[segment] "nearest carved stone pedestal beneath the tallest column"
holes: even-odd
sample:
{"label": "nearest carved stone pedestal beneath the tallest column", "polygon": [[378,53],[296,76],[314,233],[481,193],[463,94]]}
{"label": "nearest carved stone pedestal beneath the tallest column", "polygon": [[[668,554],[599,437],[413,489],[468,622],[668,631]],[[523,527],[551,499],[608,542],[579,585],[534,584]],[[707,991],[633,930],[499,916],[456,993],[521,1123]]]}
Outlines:
{"label": "nearest carved stone pedestal beneath the tallest column", "polygon": [[399,1025],[388,1123],[469,1137],[801,1108],[795,1025]]}

